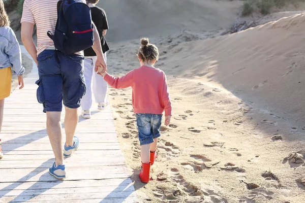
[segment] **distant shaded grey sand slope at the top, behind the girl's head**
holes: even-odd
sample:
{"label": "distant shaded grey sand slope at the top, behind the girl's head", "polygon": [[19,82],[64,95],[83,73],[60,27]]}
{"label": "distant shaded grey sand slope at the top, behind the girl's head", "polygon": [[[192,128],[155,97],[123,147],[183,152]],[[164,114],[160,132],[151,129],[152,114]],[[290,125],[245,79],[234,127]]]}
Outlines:
{"label": "distant shaded grey sand slope at the top, behind the girl's head", "polygon": [[106,0],[98,4],[107,12],[107,39],[111,42],[172,35],[181,30],[223,30],[234,22],[241,5],[240,1],[214,0]]}

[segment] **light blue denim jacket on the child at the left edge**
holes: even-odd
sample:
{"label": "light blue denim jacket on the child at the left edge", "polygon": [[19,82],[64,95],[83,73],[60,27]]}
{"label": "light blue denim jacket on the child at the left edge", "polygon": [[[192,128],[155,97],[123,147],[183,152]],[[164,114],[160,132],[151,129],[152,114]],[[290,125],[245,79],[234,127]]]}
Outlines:
{"label": "light blue denim jacket on the child at the left edge", "polygon": [[0,69],[12,67],[13,75],[24,73],[21,65],[21,51],[14,31],[10,27],[0,27]]}

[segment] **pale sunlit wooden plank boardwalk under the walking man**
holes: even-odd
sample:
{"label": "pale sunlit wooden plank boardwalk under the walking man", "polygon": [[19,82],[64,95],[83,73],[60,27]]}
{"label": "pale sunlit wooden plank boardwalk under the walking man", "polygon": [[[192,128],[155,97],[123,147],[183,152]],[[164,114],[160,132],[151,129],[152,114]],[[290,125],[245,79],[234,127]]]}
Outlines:
{"label": "pale sunlit wooden plank boardwalk under the walking man", "polygon": [[65,159],[68,178],[58,181],[49,175],[54,155],[46,115],[36,99],[37,78],[35,65],[24,89],[14,90],[5,102],[0,202],[138,202],[110,107],[94,111],[94,104],[92,118],[79,119],[79,149]]}

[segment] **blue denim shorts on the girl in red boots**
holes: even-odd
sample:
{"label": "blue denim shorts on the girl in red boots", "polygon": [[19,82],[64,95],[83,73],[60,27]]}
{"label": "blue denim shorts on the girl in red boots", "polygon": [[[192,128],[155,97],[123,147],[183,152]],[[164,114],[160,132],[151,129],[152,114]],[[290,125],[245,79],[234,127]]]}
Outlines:
{"label": "blue denim shorts on the girl in red boots", "polygon": [[136,114],[140,145],[147,145],[160,137],[162,114]]}

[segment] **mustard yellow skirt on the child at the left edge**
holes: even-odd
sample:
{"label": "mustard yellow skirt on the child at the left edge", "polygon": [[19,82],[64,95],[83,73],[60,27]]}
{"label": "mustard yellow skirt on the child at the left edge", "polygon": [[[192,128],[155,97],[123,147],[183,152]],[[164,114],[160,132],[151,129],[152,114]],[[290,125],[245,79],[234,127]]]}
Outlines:
{"label": "mustard yellow skirt on the child at the left edge", "polygon": [[12,71],[11,67],[0,69],[0,99],[9,97],[11,94]]}

